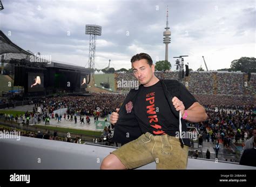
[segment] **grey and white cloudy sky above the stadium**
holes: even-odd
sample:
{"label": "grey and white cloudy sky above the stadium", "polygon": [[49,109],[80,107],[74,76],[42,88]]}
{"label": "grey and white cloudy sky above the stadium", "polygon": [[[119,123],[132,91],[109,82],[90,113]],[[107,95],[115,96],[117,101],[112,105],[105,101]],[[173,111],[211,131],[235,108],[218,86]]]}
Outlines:
{"label": "grey and white cloudy sky above the stadium", "polygon": [[[229,68],[241,56],[255,57],[255,1],[246,0],[129,0],[21,1],[2,0],[0,29],[18,46],[52,60],[88,66],[86,24],[102,26],[97,37],[95,68],[130,68],[131,57],[149,53],[164,60],[166,7],[172,32],[169,61],[188,55],[193,70],[203,58],[209,70]],[[10,32],[11,31],[11,32]]]}

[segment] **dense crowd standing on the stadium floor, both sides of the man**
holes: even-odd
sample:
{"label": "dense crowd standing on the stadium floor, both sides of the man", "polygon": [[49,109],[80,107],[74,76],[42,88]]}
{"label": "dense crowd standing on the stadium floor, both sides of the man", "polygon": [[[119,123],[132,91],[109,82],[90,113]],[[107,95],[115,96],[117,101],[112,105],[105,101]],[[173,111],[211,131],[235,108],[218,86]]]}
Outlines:
{"label": "dense crowd standing on the stadium floor, both sides of the man", "polygon": [[[218,96],[218,95],[195,95],[196,99],[204,105],[208,114],[207,121],[201,123],[187,123],[188,126],[197,127],[201,130],[201,135],[204,140],[209,136],[213,138],[213,142],[223,140],[225,138],[236,140],[239,137],[244,140],[244,134],[250,135],[250,131],[255,125],[255,98],[240,97],[240,96]],[[35,123],[45,121],[46,118],[58,118],[53,111],[62,107],[67,107],[67,115],[74,116],[95,116],[105,117],[113,112],[117,107],[120,107],[125,96],[123,94],[109,93],[93,93],[90,97],[83,96],[64,96],[46,98],[35,104],[33,112],[26,112],[23,115],[13,117],[10,114],[5,114],[5,120],[20,120],[26,123],[30,119],[36,120]],[[42,110],[38,112],[38,107]],[[97,108],[99,107],[99,112]],[[44,116],[44,113],[46,116]],[[60,116],[61,120],[62,116]],[[66,115],[65,117],[66,118]],[[68,118],[69,119],[69,118]],[[32,134],[35,135],[35,134]],[[31,136],[31,134],[29,135]],[[239,139],[240,139],[239,138]]]}

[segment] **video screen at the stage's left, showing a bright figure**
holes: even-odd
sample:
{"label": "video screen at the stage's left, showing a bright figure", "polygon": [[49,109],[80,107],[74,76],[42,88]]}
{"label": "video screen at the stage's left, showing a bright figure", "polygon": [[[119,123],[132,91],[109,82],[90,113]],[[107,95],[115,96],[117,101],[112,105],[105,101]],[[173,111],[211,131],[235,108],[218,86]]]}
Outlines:
{"label": "video screen at the stage's left, showing a bright figure", "polygon": [[29,73],[28,75],[28,91],[44,91],[44,74]]}

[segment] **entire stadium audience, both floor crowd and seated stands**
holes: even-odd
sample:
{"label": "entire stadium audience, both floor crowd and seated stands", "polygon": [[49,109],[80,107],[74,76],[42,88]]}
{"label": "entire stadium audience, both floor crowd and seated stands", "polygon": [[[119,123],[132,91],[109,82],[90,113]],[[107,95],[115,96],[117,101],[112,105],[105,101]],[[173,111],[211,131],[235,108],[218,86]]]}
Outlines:
{"label": "entire stadium audience, both floor crowd and seated stands", "polygon": [[[177,72],[156,72],[159,78],[178,80]],[[116,81],[133,80],[136,81],[132,73],[118,73]],[[200,132],[200,142],[212,141],[213,143],[223,142],[224,146],[230,146],[231,142],[237,144],[244,142],[252,136],[252,130],[255,127],[255,75],[251,76],[248,87],[244,85],[244,74],[232,73],[198,73],[192,72],[188,80],[189,90],[202,104],[208,119],[201,123],[189,123],[187,126],[197,127]],[[200,81],[198,81],[200,80]],[[184,82],[183,82],[184,83]],[[217,83],[217,95],[213,94],[214,84]],[[129,91],[130,88],[117,88]],[[16,120],[17,122],[40,123],[45,124],[49,118],[61,120],[76,120],[76,116],[90,116],[105,118],[107,114],[115,111],[124,101],[125,94],[114,93],[92,93],[89,97],[84,96],[62,96],[52,98],[42,98],[33,107],[32,112],[25,112],[23,115],[12,116],[5,113],[2,118],[5,120]],[[58,109],[68,109],[65,116],[58,116],[54,111]],[[59,119],[60,118],[60,119]],[[80,118],[80,120],[82,120]],[[86,117],[87,120],[87,117]],[[82,123],[82,122],[81,122]],[[49,124],[49,123],[48,123]],[[103,132],[107,134],[109,131]],[[36,137],[42,133],[23,132],[22,135]],[[46,135],[46,136],[45,136]],[[105,135],[104,135],[105,136]],[[48,138],[48,134],[42,137]],[[49,139],[56,139],[54,135],[49,134]],[[60,139],[62,140],[62,139]],[[69,140],[64,140],[69,141]]]}

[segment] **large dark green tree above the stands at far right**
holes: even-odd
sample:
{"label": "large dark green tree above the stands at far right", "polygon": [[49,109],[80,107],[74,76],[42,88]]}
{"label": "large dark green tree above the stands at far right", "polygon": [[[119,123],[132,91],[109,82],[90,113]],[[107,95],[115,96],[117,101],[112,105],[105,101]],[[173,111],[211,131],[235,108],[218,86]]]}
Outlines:
{"label": "large dark green tree above the stands at far right", "polygon": [[230,68],[232,71],[256,73],[256,59],[255,57],[240,57],[240,59],[231,62]]}

